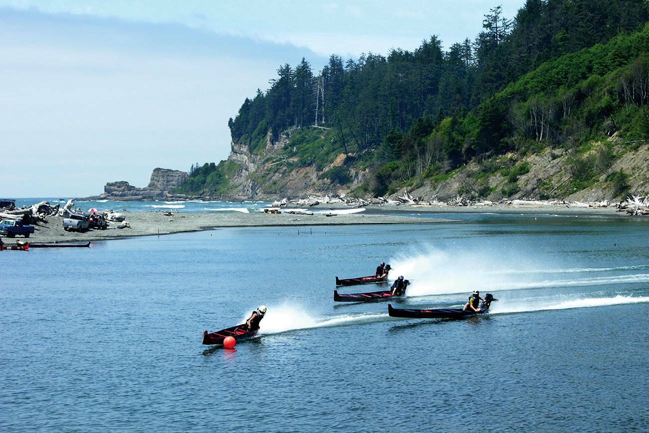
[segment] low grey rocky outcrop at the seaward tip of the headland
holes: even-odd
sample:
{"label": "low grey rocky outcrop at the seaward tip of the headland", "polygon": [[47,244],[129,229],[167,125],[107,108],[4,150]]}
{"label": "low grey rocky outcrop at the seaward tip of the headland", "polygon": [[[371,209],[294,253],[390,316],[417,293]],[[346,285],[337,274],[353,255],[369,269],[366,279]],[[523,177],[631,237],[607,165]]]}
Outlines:
{"label": "low grey rocky outcrop at the seaward tip of the headland", "polygon": [[99,197],[88,198],[117,201],[184,199],[186,196],[171,194],[169,190],[180,186],[188,177],[185,171],[156,168],[151,173],[149,185],[145,188],[136,188],[126,180],[119,180],[108,182]]}

